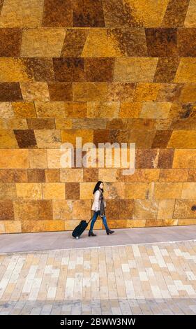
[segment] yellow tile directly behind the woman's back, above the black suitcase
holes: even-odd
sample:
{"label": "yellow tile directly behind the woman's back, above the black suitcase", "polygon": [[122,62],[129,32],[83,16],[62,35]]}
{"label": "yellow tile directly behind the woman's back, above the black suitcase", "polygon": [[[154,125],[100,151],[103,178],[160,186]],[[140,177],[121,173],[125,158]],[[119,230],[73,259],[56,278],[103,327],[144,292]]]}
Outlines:
{"label": "yellow tile directly behind the woman's back, above the black suitcase", "polygon": [[73,200],[73,219],[89,220],[90,218],[91,200]]}

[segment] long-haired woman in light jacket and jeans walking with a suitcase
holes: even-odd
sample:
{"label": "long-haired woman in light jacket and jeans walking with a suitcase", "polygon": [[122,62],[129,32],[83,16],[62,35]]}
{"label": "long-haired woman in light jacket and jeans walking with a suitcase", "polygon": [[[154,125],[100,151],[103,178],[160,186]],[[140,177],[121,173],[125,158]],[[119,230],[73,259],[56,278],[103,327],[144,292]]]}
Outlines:
{"label": "long-haired woman in light jacket and jeans walking with a suitcase", "polygon": [[114,231],[111,231],[107,226],[107,221],[105,216],[106,202],[103,196],[103,181],[98,181],[96,183],[96,186],[93,190],[93,195],[94,195],[94,201],[91,210],[94,211],[94,214],[93,214],[93,219],[91,221],[91,227],[89,230],[89,237],[96,237],[96,235],[93,233],[93,226],[98,216],[100,216],[103,220],[103,224],[105,226],[107,235],[111,235],[112,233],[114,233]]}

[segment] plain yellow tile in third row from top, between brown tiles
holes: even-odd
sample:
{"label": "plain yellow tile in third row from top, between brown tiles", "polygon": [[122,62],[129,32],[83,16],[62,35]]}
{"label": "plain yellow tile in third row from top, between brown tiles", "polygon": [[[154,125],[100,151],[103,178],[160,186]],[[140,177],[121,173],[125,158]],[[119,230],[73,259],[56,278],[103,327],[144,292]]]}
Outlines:
{"label": "plain yellow tile in third row from top, between brown tiles", "polygon": [[153,82],[158,58],[117,57],[114,64],[114,81]]}

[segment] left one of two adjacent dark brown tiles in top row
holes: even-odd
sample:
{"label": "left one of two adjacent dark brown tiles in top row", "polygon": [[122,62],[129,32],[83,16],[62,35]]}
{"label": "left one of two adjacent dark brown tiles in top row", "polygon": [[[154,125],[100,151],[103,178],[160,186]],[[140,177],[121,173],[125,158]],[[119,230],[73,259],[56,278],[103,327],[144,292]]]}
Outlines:
{"label": "left one of two adjacent dark brown tiles in top row", "polygon": [[45,0],[43,27],[73,27],[72,1]]}

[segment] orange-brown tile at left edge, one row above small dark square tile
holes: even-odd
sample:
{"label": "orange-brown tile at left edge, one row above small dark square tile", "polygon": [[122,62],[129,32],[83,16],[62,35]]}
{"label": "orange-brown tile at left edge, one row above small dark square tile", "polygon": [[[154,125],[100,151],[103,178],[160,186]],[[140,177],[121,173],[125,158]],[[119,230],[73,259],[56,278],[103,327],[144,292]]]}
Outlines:
{"label": "orange-brown tile at left edge, one row above small dark square tile", "polygon": [[27,182],[27,170],[25,169],[1,169],[1,183],[25,183]]}

